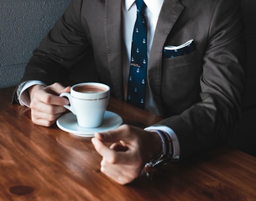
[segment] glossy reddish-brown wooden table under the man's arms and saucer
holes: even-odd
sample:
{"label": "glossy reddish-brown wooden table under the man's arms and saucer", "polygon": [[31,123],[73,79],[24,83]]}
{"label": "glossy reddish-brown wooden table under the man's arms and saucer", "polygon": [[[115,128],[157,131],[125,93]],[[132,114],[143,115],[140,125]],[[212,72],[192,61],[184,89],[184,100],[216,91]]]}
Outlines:
{"label": "glossy reddish-brown wooden table under the man's arms and saucer", "polygon": [[[0,200],[256,200],[256,159],[216,149],[120,185],[100,171],[91,139],[32,124],[0,90]],[[160,120],[111,99],[108,110],[142,128]]]}

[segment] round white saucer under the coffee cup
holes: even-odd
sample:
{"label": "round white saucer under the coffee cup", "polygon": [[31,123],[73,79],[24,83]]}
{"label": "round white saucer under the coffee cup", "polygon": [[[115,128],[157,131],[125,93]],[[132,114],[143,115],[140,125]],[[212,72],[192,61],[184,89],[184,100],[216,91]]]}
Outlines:
{"label": "round white saucer under the coffee cup", "polygon": [[76,116],[69,112],[58,118],[56,123],[65,132],[75,134],[76,136],[93,137],[95,132],[105,132],[117,128],[122,124],[122,118],[114,112],[106,111],[101,126],[97,128],[82,128],[78,126]]}

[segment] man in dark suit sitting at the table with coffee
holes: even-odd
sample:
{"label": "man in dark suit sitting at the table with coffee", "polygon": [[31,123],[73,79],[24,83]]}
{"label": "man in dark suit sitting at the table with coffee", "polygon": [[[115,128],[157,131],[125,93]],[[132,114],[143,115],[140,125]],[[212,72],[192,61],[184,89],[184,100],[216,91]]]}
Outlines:
{"label": "man in dark suit sitting at the table with coffee", "polygon": [[[95,134],[93,145],[103,156],[101,171],[120,184],[134,181],[146,163],[181,160],[225,140],[240,112],[244,50],[239,1],[144,2],[148,24],[144,108],[165,119],[145,130],[122,125]],[[34,51],[17,90],[21,104],[31,107],[35,124],[50,126],[65,111],[68,102],[58,95],[70,88],[58,82],[81,58],[92,64],[85,63],[85,68],[97,70],[113,97],[126,101],[135,20],[132,0],[71,1]],[[193,49],[166,56],[165,50],[172,46],[176,52]],[[107,147],[105,141],[112,145]]]}

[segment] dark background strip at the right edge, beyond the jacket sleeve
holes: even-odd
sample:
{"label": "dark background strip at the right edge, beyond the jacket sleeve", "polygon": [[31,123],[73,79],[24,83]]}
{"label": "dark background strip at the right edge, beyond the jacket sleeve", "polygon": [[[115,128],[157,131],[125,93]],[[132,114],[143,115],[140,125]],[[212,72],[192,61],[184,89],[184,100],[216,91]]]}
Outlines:
{"label": "dark background strip at the right edge, beyond the jacket sleeve", "polygon": [[247,79],[241,122],[229,144],[256,156],[256,1],[241,0],[247,45]]}

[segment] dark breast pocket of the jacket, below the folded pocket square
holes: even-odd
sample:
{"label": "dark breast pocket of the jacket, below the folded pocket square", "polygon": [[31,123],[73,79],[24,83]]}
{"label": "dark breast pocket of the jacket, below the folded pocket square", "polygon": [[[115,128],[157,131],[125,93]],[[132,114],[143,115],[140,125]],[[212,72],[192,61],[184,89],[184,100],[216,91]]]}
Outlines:
{"label": "dark breast pocket of the jacket, below the folded pocket square", "polygon": [[161,95],[170,114],[179,114],[198,99],[202,61],[196,51],[185,56],[163,59]]}

